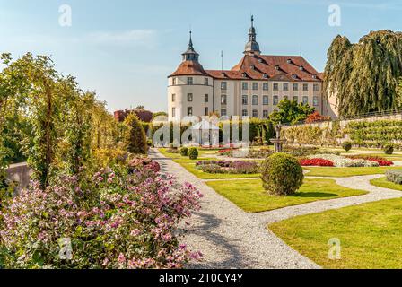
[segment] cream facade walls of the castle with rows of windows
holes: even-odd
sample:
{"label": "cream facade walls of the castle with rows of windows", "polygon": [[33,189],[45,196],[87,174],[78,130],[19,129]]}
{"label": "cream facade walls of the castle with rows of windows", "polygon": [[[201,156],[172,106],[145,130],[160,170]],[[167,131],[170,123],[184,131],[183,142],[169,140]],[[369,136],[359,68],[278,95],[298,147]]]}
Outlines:
{"label": "cream facade walls of the castle with rows of windows", "polygon": [[[192,80],[188,80],[189,78]],[[208,79],[208,85],[204,84],[205,78]],[[176,83],[173,84],[175,81]],[[193,81],[193,84],[187,84],[188,81]],[[247,83],[248,89],[243,90],[243,83]],[[293,84],[297,85],[297,91],[293,90]],[[254,90],[256,85],[257,90]],[[277,90],[274,90],[276,85]],[[307,91],[305,85],[307,85]],[[223,89],[224,86],[226,89]],[[187,75],[169,79],[169,120],[178,121],[186,116],[208,116],[213,111],[220,116],[267,118],[277,109],[277,104],[286,97],[288,100],[308,103],[319,113],[328,114],[324,109],[326,100],[323,99],[322,83],[223,81],[207,76]],[[243,98],[245,98],[244,101]]]}

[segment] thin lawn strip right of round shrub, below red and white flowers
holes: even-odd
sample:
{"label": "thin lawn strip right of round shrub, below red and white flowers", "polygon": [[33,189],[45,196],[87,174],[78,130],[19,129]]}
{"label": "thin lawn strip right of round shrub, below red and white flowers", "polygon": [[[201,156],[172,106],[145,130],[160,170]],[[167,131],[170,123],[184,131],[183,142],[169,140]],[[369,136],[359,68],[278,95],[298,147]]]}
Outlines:
{"label": "thin lawn strip right of round shrub, below red and white flowers", "polygon": [[347,178],[354,176],[366,176],[372,174],[382,174],[386,170],[402,170],[402,168],[392,167],[362,167],[362,168],[330,168],[330,167],[303,167],[304,170],[310,170],[306,174],[308,177],[334,177]]}

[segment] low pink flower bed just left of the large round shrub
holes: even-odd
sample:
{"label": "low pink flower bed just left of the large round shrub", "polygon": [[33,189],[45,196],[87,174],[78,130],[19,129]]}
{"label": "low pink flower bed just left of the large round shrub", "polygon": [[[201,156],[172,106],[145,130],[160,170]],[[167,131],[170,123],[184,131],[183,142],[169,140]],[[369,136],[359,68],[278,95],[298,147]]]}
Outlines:
{"label": "low pink flower bed just left of the large round shrub", "polygon": [[253,174],[259,172],[259,165],[254,161],[198,161],[196,167],[206,173]]}

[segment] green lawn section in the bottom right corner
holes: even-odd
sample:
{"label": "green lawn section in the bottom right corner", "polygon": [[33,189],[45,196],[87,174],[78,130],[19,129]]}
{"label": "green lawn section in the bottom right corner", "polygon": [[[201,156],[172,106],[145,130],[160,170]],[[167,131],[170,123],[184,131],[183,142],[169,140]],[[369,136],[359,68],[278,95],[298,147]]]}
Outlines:
{"label": "green lawn section in the bottom right corner", "polygon": [[[302,255],[325,268],[402,268],[402,199],[298,216],[268,226]],[[328,259],[328,240],[341,259]]]}

